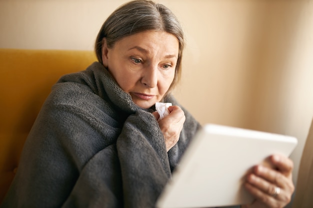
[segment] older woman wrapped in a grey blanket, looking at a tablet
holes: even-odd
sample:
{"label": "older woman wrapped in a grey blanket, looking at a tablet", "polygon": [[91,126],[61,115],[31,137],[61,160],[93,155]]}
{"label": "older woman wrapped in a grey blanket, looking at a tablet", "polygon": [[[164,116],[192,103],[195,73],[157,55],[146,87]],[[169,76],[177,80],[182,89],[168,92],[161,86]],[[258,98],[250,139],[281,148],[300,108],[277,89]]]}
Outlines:
{"label": "older woman wrapped in a grey blanket, looking at a tablet", "polygon": [[[53,86],[1,207],[154,207],[200,128],[170,95],[183,47],[180,24],[164,5],[135,0],[117,8],[96,38],[98,62]],[[163,119],[156,102],[172,103]],[[273,156],[272,164],[247,176],[256,200],[246,207],[288,203],[292,162]]]}

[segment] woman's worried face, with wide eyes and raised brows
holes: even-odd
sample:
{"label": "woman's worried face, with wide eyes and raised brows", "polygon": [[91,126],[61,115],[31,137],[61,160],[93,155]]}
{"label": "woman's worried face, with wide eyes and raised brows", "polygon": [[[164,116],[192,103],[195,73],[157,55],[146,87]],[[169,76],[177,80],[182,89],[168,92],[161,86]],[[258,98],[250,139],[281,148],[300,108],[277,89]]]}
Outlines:
{"label": "woman's worried face, with wide eyes and raised brows", "polygon": [[141,108],[159,102],[175,75],[179,43],[164,31],[144,31],[124,37],[112,48],[102,46],[103,65],[122,90]]}

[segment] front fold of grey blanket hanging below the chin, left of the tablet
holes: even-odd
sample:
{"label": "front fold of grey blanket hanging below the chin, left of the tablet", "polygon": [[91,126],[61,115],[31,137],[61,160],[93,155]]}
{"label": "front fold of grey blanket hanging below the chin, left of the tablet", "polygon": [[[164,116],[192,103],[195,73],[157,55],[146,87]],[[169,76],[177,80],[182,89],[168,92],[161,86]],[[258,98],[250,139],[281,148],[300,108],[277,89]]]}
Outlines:
{"label": "front fold of grey blanket hanging below the chin, left of the tablet", "polygon": [[163,135],[152,114],[130,115],[117,139],[126,208],[153,207],[170,177]]}

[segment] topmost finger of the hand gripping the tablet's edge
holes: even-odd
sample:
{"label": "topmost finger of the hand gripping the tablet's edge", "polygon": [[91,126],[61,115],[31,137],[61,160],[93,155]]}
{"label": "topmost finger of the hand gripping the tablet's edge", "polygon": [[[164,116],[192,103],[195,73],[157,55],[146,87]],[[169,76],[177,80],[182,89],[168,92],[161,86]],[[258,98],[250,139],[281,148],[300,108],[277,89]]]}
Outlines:
{"label": "topmost finger of the hand gripping the tablet's edge", "polygon": [[270,156],[269,160],[285,176],[289,176],[292,173],[293,162],[289,158],[275,154]]}

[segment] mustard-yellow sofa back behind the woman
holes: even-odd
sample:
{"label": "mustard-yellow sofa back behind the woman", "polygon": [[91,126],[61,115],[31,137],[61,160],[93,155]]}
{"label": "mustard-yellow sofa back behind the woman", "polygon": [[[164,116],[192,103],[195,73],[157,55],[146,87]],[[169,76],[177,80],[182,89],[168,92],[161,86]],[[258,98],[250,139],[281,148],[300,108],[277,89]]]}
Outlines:
{"label": "mustard-yellow sofa back behind the woman", "polygon": [[0,49],[0,203],[51,86],[95,60],[93,51]]}

